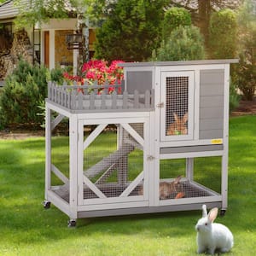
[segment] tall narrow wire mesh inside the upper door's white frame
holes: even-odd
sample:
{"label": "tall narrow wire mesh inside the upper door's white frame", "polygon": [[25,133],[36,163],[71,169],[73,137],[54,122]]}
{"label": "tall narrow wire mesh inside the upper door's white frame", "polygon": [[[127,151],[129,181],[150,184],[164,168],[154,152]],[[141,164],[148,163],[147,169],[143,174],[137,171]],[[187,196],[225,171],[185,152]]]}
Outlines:
{"label": "tall narrow wire mesh inside the upper door's white frame", "polygon": [[166,77],[166,135],[188,134],[189,77]]}

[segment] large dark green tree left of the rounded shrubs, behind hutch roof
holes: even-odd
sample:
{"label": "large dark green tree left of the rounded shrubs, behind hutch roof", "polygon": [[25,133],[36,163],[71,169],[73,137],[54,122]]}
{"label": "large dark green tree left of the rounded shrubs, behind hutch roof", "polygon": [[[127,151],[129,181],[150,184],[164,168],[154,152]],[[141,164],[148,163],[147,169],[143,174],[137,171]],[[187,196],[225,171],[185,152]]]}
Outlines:
{"label": "large dark green tree left of the rounded shrubs, behind hutch roof", "polygon": [[160,42],[166,0],[119,0],[96,32],[96,58],[143,61]]}

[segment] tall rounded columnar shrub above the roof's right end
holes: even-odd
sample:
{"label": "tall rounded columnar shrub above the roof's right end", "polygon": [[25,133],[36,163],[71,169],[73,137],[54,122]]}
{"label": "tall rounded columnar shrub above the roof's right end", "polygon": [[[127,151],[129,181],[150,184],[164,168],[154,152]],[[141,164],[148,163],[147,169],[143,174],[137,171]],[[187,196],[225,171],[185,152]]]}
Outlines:
{"label": "tall rounded columnar shrub above the roof's right end", "polygon": [[231,9],[212,14],[209,26],[209,47],[213,59],[232,59],[236,56],[237,21]]}

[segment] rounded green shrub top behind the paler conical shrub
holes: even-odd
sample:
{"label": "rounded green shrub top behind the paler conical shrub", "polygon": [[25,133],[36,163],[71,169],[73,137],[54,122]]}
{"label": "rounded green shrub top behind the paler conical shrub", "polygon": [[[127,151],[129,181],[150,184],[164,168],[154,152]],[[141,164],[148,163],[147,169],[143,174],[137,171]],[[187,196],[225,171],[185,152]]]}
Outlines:
{"label": "rounded green shrub top behind the paler conical shrub", "polygon": [[191,15],[184,8],[172,7],[166,10],[163,21],[163,40],[169,38],[178,26],[191,26]]}

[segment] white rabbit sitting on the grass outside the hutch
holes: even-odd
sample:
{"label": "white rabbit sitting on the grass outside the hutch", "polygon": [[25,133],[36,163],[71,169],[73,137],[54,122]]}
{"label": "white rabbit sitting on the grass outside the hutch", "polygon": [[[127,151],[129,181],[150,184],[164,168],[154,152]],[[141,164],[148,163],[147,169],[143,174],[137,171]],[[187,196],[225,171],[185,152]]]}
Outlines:
{"label": "white rabbit sitting on the grass outside the hutch", "polygon": [[215,250],[221,253],[230,251],[234,245],[234,238],[231,231],[223,224],[213,224],[218,215],[218,208],[213,208],[207,214],[207,206],[202,206],[202,218],[195,225],[197,231],[197,253],[211,253]]}

